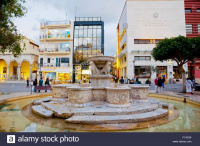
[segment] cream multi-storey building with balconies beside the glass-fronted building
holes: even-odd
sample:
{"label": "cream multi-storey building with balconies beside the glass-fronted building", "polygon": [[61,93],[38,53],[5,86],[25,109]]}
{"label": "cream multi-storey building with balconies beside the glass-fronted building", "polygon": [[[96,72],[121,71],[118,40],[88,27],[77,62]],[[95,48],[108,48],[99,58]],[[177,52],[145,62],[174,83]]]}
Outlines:
{"label": "cream multi-storey building with balconies beside the glass-fronted building", "polygon": [[72,80],[73,21],[49,21],[40,26],[40,76],[54,83]]}

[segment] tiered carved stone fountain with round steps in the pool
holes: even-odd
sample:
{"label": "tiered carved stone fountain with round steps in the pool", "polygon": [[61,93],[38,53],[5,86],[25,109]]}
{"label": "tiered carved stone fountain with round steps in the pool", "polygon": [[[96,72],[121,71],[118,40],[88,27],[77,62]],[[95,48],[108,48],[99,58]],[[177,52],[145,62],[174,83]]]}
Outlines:
{"label": "tiered carved stone fountain with round steps in the pool", "polygon": [[134,123],[168,115],[162,108],[165,103],[149,100],[149,86],[111,86],[113,57],[93,56],[88,61],[91,84],[53,86],[53,96],[35,101],[32,111],[44,118],[56,116],[77,124]]}

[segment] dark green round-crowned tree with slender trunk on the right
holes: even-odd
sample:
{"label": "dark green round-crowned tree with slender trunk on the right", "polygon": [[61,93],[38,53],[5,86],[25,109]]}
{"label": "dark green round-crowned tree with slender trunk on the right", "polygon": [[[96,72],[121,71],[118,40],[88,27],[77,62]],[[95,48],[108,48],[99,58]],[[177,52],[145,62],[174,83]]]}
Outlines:
{"label": "dark green round-crowned tree with slender trunk on the right", "polygon": [[153,48],[152,56],[156,61],[167,61],[172,59],[176,61],[180,68],[183,79],[183,92],[185,89],[185,70],[183,65],[188,61],[193,61],[194,58],[200,58],[200,37],[187,38],[178,36],[165,38]]}

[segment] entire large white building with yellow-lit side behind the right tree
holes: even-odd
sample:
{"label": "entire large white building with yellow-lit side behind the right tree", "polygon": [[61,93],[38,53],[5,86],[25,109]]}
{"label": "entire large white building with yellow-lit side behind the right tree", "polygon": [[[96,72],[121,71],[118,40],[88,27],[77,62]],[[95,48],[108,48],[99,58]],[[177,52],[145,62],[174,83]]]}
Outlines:
{"label": "entire large white building with yellow-lit side behind the right tree", "polygon": [[[119,77],[181,78],[175,61],[155,61],[151,52],[164,38],[186,36],[183,0],[127,0],[117,26]],[[184,65],[187,72],[188,66]]]}

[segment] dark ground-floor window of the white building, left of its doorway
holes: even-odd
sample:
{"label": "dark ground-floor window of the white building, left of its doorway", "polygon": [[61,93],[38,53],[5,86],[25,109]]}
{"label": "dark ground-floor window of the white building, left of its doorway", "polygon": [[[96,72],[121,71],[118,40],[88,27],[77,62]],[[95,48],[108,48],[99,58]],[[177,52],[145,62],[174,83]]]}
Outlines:
{"label": "dark ground-floor window of the white building, left of its doorway", "polygon": [[150,66],[135,66],[135,75],[139,78],[150,78],[151,67]]}

